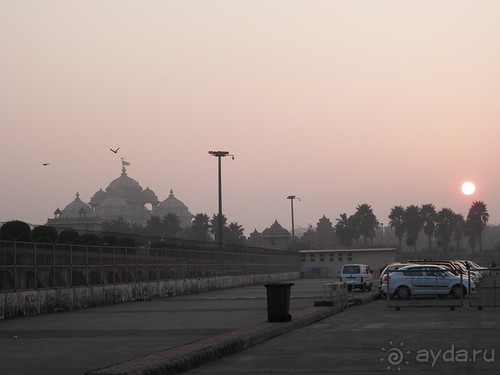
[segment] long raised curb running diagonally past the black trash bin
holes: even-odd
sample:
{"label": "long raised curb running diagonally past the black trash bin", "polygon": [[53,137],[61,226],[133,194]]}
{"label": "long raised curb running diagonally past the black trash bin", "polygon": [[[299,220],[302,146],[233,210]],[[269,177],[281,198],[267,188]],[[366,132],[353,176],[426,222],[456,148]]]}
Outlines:
{"label": "long raised curb running diagonally past the black trash bin", "polygon": [[[378,296],[366,295],[356,298],[354,302],[359,305],[376,299]],[[295,329],[306,327],[341,311],[344,311],[341,306],[310,307],[294,311],[292,320],[289,322],[257,323],[190,344],[93,370],[85,375],[174,375],[245,350]]]}

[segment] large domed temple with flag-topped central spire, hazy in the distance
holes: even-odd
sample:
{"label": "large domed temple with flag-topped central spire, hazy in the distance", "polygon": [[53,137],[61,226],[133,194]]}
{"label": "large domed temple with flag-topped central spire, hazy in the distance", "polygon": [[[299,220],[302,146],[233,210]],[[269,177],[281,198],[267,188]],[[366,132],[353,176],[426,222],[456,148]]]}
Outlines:
{"label": "large domed temple with flag-topped central spire, hazy in the distance", "polygon": [[192,215],[187,206],[175,198],[170,190],[170,195],[163,202],[158,200],[156,194],[149,187],[143,189],[133,178],[127,175],[125,165],[122,163],[120,177],[113,180],[106,190],[99,189],[85,203],[76,193],[76,198],[63,210],[57,208],[54,218],[47,220],[47,225],[57,228],[73,228],[82,231],[100,231],[105,222],[123,220],[130,225],[145,226],[152,216],[163,218],[169,213],[176,214],[181,227],[191,224]]}

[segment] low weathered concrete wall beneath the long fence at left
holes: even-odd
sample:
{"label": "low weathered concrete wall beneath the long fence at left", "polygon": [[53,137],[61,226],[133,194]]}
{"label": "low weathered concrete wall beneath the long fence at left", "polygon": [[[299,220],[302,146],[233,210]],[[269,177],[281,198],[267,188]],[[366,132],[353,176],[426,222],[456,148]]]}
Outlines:
{"label": "low weathered concrete wall beneath the long fence at left", "polygon": [[294,280],[299,277],[300,272],[291,272],[2,292],[0,319]]}

